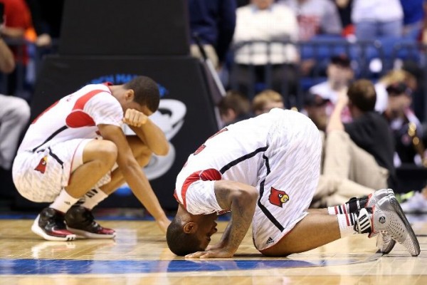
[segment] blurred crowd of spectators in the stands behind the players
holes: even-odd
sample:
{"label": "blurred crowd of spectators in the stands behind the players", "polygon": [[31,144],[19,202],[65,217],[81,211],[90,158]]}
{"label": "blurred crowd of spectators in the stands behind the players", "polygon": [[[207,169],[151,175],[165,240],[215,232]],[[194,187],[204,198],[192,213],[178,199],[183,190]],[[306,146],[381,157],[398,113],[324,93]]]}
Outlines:
{"label": "blurred crowd of spectators in the stands behind the players", "polygon": [[[190,53],[212,63],[226,90],[216,106],[223,126],[288,108],[325,132],[339,97],[364,78],[394,135],[394,167],[427,167],[426,0],[187,2]],[[1,38],[16,60],[0,93],[31,105],[43,56],[58,50],[64,1],[0,4]],[[341,117],[353,120],[348,108]]]}

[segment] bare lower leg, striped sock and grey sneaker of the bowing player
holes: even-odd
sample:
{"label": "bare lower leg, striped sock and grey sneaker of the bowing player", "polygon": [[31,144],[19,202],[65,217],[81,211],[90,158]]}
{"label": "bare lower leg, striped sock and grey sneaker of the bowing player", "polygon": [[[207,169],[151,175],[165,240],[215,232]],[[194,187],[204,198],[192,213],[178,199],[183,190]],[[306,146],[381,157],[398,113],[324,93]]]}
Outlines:
{"label": "bare lower leg, striped sock and grey sneaker of the bowing player", "polygon": [[[363,204],[374,205],[364,207]],[[362,208],[354,210],[357,207]],[[352,234],[369,234],[369,237],[383,234],[404,245],[411,255],[420,253],[413,229],[390,190],[379,190],[377,195],[367,199],[353,199],[342,206],[329,207],[328,212],[330,215],[310,212],[279,242],[260,252],[267,256],[287,256],[315,249]],[[390,251],[393,246],[394,243],[385,244],[384,249]]]}

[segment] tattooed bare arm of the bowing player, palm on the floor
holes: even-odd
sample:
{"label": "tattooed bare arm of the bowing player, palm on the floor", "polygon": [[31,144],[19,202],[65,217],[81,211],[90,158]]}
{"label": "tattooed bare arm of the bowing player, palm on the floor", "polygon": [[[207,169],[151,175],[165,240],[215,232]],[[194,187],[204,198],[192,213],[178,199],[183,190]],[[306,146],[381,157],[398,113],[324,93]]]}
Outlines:
{"label": "tattooed bare arm of the bowing player, palm on the floor", "polygon": [[241,182],[218,180],[215,182],[215,195],[222,209],[231,210],[230,224],[221,237],[222,247],[189,254],[188,257],[233,257],[251,226],[258,199],[255,187]]}

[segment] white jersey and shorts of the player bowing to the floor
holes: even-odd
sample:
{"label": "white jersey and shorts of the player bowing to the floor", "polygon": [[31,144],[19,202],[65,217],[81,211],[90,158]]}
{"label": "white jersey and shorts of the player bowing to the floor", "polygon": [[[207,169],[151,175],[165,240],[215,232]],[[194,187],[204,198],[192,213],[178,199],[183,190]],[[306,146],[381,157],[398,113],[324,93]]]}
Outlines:
{"label": "white jersey and shorts of the player bowing to the floor", "polygon": [[189,156],[176,179],[176,200],[191,214],[222,209],[216,180],[256,187],[253,240],[262,250],[280,241],[307,215],[320,175],[322,140],[307,116],[273,109],[229,125]]}

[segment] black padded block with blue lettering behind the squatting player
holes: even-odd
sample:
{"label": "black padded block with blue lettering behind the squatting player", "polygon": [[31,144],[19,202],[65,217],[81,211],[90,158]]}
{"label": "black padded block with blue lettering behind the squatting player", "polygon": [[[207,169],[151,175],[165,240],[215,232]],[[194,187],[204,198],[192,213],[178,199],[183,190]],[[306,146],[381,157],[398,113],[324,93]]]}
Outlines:
{"label": "black padded block with blue lettering behind the squatting player", "polygon": [[[38,76],[36,92],[31,101],[31,117],[45,110],[59,98],[72,93],[94,80],[121,81],[130,75],[144,75],[159,83],[167,95],[163,98],[179,100],[186,105],[184,125],[170,140],[176,150],[171,169],[151,182],[154,192],[164,209],[177,207],[173,197],[176,175],[206,138],[218,130],[210,90],[206,88],[204,68],[196,58],[187,56],[152,57],[73,57],[47,56]],[[19,197],[17,207],[36,207],[35,203]],[[142,207],[133,196],[109,197],[100,207]]]}

